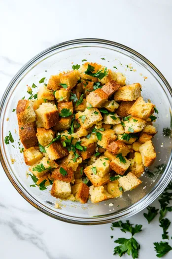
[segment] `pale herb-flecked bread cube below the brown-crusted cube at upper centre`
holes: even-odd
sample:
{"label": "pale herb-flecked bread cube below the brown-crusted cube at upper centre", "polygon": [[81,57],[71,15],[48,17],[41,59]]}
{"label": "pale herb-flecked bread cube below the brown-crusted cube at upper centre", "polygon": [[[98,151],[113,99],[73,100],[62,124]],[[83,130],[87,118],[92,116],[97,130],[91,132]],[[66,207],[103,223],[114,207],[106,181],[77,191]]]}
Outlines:
{"label": "pale herb-flecked bread cube below the brown-crusted cube at upper centre", "polygon": [[97,108],[86,109],[84,112],[77,112],[75,118],[80,123],[81,127],[88,129],[102,120],[102,115]]}

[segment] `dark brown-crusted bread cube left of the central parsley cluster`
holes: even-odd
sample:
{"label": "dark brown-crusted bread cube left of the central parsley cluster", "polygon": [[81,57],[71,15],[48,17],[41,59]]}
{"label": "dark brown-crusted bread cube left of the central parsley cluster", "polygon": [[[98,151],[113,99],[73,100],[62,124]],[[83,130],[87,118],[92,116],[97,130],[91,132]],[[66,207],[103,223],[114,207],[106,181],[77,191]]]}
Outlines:
{"label": "dark brown-crusted bread cube left of the central parsley cluster", "polygon": [[51,160],[60,159],[69,154],[68,149],[64,148],[60,141],[52,143],[48,148],[45,148],[45,150]]}

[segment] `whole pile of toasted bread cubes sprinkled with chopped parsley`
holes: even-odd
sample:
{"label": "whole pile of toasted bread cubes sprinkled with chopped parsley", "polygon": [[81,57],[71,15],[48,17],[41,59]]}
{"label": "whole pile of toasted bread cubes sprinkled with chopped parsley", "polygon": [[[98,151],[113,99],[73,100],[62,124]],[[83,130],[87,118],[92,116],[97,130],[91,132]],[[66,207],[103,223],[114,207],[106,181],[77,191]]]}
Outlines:
{"label": "whole pile of toasted bread cubes sprinkled with chopped parsley", "polygon": [[[24,160],[41,190],[92,203],[120,197],[142,182],[156,152],[155,106],[141,85],[97,63],[51,75],[37,98],[19,100]],[[31,185],[33,186],[33,185]]]}

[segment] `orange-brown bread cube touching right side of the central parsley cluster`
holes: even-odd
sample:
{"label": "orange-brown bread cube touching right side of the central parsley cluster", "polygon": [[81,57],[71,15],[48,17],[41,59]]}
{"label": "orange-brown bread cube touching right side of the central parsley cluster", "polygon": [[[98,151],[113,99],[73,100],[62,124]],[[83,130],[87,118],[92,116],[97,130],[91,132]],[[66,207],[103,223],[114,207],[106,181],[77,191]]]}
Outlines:
{"label": "orange-brown bread cube touching right side of the central parsley cluster", "polygon": [[89,139],[83,138],[81,140],[81,146],[87,148],[85,151],[80,152],[82,160],[90,158],[92,156],[92,154],[95,152],[95,149],[97,147],[96,136],[91,135],[91,137]]}

